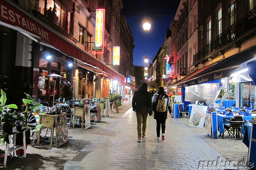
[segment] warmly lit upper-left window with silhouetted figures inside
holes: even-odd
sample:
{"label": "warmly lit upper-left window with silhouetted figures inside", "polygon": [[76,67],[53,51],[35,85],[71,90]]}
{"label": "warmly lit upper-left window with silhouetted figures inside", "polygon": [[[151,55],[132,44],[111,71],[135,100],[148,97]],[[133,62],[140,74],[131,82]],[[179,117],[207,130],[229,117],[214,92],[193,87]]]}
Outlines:
{"label": "warmly lit upper-left window with silhouetted figures inside", "polygon": [[71,13],[60,1],[39,0],[38,11],[62,30],[70,35],[73,34],[71,29]]}

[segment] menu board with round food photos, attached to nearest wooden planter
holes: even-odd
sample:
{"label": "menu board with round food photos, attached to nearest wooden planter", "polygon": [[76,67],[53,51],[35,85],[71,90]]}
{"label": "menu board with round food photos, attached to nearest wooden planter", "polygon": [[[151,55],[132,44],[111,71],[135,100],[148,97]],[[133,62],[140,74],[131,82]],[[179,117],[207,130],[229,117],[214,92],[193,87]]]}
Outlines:
{"label": "menu board with round food photos, attached to nearest wooden planter", "polygon": [[54,117],[56,130],[56,147],[68,142],[67,113],[61,113]]}

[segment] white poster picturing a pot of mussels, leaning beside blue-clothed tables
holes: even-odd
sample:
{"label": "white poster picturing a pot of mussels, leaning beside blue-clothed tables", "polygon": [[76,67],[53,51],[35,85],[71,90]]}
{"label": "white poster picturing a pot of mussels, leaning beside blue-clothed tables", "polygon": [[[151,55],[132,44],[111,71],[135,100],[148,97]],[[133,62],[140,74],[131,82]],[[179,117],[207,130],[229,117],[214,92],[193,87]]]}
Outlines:
{"label": "white poster picturing a pot of mussels, leaning beside blue-clothed tables", "polygon": [[196,128],[203,128],[206,111],[207,111],[207,106],[199,106],[199,105],[192,106],[188,125],[194,126]]}

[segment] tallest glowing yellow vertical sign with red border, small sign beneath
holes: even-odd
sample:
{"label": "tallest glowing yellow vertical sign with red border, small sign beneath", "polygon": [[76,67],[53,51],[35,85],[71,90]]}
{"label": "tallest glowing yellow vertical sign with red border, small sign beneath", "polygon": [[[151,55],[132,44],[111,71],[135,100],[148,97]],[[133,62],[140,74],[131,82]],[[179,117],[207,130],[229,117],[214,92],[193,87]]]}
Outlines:
{"label": "tallest glowing yellow vertical sign with red border, small sign beneath", "polygon": [[[95,53],[103,53],[104,47],[104,20],[105,9],[96,10],[96,25],[95,25],[95,47],[101,47],[101,50],[93,51]],[[98,48],[100,49],[100,48]]]}

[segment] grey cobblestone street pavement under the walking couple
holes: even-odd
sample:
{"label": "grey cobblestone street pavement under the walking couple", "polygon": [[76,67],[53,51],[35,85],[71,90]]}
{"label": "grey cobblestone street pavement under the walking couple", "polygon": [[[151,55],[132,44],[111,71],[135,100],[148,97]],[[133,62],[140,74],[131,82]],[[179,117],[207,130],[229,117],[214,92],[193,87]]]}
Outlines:
{"label": "grey cobblestone street pavement under the walking couple", "polygon": [[[199,164],[199,161],[238,161],[247,157],[241,139],[212,139],[205,129],[188,126],[189,119],[166,121],[165,140],[156,140],[156,121],[148,117],[147,139],[138,143],[136,116],[131,103],[119,107],[120,113],[91,123],[89,129],[68,129],[69,141],[60,148],[49,141],[28,146],[27,158],[8,156],[5,169],[224,169],[224,166]],[[49,135],[50,136],[50,133]],[[55,140],[54,140],[55,141]],[[1,159],[1,166],[3,158]],[[232,169],[225,167],[227,169]],[[237,169],[237,168],[233,168]],[[244,168],[243,168],[244,169]],[[246,169],[246,168],[245,168]]]}

